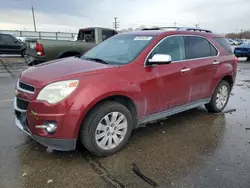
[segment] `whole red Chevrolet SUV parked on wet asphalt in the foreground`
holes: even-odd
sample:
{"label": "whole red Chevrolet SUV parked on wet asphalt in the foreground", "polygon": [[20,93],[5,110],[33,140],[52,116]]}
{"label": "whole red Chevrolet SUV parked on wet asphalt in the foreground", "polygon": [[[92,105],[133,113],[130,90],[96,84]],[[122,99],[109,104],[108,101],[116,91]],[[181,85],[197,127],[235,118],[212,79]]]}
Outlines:
{"label": "whole red Chevrolet SUV parked on wet asphalt in the foreground", "polygon": [[221,112],[236,72],[232,49],[210,31],[121,33],[84,55],[25,70],[15,90],[15,123],[52,149],[74,150],[79,139],[106,156],[142,124],[201,105]]}

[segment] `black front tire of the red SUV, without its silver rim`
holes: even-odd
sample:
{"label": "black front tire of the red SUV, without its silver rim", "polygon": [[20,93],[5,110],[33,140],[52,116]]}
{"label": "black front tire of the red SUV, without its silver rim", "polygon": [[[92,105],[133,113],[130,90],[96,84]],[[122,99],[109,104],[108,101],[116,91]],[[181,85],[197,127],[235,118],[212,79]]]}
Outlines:
{"label": "black front tire of the red SUV, without its silver rim", "polygon": [[[115,148],[107,150],[102,149],[98,146],[98,143],[95,139],[95,133],[98,126],[98,123],[109,113],[111,112],[120,112],[126,117],[127,120],[127,132],[120,142]],[[92,154],[97,156],[108,156],[113,153],[121,150],[125,144],[128,142],[131,132],[132,132],[132,115],[130,111],[123,106],[122,104],[114,101],[105,101],[98,105],[96,105],[90,113],[87,115],[85,120],[83,121],[81,130],[80,130],[80,140],[82,144],[88,149]]]}

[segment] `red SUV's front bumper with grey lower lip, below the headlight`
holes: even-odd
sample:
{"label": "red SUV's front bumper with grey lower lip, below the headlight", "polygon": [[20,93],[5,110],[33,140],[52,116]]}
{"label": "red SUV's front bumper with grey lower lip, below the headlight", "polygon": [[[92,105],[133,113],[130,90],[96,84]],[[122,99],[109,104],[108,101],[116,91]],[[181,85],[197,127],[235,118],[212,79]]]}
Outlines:
{"label": "red SUV's front bumper with grey lower lip, below the headlight", "polygon": [[[61,108],[52,109],[45,103],[36,101],[30,101],[25,110],[19,107],[18,99],[20,98],[14,98],[15,124],[17,127],[46,147],[60,151],[75,150],[77,117],[80,113],[72,110],[66,111],[63,109],[63,105],[60,106]],[[25,105],[21,106],[24,107]],[[40,113],[34,115],[34,111],[40,111]],[[52,111],[57,113],[52,113]],[[36,125],[43,125],[46,121],[57,122],[55,133],[49,134],[44,129],[36,128]]]}

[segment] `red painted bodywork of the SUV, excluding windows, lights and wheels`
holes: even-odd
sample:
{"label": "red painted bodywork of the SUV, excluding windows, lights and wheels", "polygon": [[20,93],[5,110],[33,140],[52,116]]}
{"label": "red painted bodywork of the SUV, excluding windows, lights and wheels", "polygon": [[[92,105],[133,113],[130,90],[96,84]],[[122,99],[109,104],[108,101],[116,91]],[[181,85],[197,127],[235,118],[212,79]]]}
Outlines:
{"label": "red painted bodywork of the SUV, excluding windows, lights and wheels", "polygon": [[[137,126],[206,104],[223,77],[231,76],[235,80],[235,56],[213,39],[217,35],[185,31],[131,32],[135,33],[156,37],[128,64],[107,65],[69,57],[25,70],[20,81],[34,86],[35,91],[34,94],[17,91],[16,98],[29,101],[26,115],[30,134],[51,139],[77,139],[83,120],[90,110],[101,101],[115,96],[126,97],[133,102],[137,112],[134,126]],[[219,54],[164,65],[147,65],[151,50],[159,41],[173,35],[205,37],[217,48]],[[219,63],[214,64],[215,61]],[[190,71],[181,71],[186,68],[190,68]],[[46,85],[71,79],[79,80],[79,84],[64,100],[49,104],[36,99]],[[56,121],[58,126],[54,134],[35,128],[35,125],[51,120]]]}

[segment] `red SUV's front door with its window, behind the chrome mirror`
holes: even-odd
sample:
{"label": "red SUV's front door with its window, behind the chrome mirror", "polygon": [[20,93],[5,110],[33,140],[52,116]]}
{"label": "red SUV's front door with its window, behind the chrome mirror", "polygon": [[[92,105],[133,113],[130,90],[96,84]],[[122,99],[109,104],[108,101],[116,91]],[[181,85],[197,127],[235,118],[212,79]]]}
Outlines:
{"label": "red SUV's front door with its window, behind the chrome mirror", "polygon": [[158,106],[159,111],[170,110],[188,102],[190,91],[190,63],[185,61],[185,41],[182,36],[170,36],[163,39],[152,51],[155,54],[168,54],[172,62],[167,65],[156,65],[158,73]]}

